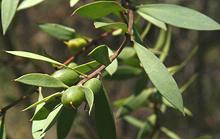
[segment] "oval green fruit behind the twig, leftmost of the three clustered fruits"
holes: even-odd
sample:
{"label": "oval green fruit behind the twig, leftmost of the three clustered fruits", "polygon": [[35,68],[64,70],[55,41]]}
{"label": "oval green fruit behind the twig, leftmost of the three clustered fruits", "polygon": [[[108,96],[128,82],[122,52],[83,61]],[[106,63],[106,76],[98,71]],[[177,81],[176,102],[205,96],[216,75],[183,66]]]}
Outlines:
{"label": "oval green fruit behind the twig, leftmost of the three clustered fruits", "polygon": [[[75,66],[77,66],[75,63],[70,63],[68,65],[68,67],[70,68],[74,68]],[[64,84],[68,86],[74,85],[80,79],[78,73],[68,68],[55,71],[52,76],[56,79],[61,80]]]}

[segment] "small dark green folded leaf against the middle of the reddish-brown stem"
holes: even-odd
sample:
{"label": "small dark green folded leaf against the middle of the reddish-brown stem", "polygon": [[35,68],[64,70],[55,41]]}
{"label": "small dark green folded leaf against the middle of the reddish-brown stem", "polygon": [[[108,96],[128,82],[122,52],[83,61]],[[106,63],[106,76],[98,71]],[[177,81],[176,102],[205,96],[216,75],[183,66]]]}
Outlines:
{"label": "small dark green folded leaf against the middle of the reddish-brown stem", "polygon": [[111,63],[108,54],[108,47],[106,47],[106,45],[97,46],[89,53],[89,55],[92,56],[97,62],[105,66]]}

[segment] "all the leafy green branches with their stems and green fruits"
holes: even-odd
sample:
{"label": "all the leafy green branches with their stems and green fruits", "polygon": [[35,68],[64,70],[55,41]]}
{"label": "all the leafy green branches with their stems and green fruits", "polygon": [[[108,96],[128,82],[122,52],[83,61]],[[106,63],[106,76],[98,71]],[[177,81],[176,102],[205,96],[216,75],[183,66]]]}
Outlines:
{"label": "all the leafy green branches with their stems and green fruits", "polygon": [[[43,1],[2,0],[3,34],[8,30],[16,12]],[[78,0],[70,0],[70,7],[77,2]],[[220,25],[211,18],[186,7],[172,4],[135,5],[127,0],[121,3],[95,1],[84,4],[74,10],[73,16],[76,15],[92,20],[96,29],[101,29],[113,36],[123,36],[124,40],[116,50],[110,49],[107,44],[97,45],[90,50],[88,48],[91,45],[96,45],[95,39],[83,36],[65,25],[45,23],[39,25],[42,31],[63,41],[69,51],[73,51],[72,54],[79,55],[85,53],[85,50],[90,50],[87,58],[93,60],[67,66],[69,62],[61,63],[31,52],[6,51],[15,56],[44,61],[60,68],[51,75],[29,73],[15,79],[19,83],[37,86],[39,89],[38,101],[25,109],[36,107],[32,117],[33,138],[44,138],[47,131],[57,123],[58,139],[64,139],[78,116],[78,107],[85,102],[89,106],[90,117],[95,117],[96,131],[100,139],[116,139],[115,119],[117,118],[124,119],[138,128],[138,139],[154,138],[158,131],[169,138],[179,139],[176,133],[163,125],[158,125],[158,119],[167,108],[173,108],[183,115],[192,116],[190,110],[184,106],[181,93],[190,86],[196,75],[181,88],[178,87],[173,75],[184,68],[196,49],[193,49],[189,57],[180,65],[167,68],[164,61],[171,48],[171,26],[192,30],[220,30]],[[135,20],[135,17],[143,19]],[[138,29],[141,22],[147,23],[143,33],[142,29]],[[143,40],[152,27],[158,27],[160,34],[155,46],[149,48]],[[139,79],[137,81],[139,86],[130,96],[114,102],[114,107],[118,110],[115,116],[111,107],[113,103],[109,101],[108,93],[102,82],[103,80],[116,81],[131,78]],[[42,87],[52,88],[54,93],[43,98]],[[54,88],[59,91],[57,92]],[[130,115],[142,107],[152,108],[152,105],[154,112],[143,121]],[[1,138],[5,138],[4,118],[5,115],[1,121]]]}

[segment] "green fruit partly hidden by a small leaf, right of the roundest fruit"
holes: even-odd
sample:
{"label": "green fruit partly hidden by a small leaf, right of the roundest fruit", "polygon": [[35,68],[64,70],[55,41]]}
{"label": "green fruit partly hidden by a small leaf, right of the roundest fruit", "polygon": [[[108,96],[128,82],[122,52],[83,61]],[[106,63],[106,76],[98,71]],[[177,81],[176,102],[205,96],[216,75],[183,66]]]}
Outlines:
{"label": "green fruit partly hidden by a small leaf, right of the roundest fruit", "polygon": [[88,80],[84,84],[84,86],[87,88],[90,88],[92,90],[92,92],[94,93],[94,95],[96,95],[98,92],[100,92],[100,90],[102,88],[102,83],[99,79],[92,78],[92,79]]}

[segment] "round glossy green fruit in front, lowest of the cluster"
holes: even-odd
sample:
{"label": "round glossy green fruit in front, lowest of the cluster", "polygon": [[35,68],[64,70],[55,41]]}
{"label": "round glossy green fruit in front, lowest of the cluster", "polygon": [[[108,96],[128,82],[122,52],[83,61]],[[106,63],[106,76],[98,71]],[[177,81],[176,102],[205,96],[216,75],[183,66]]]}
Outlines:
{"label": "round glossy green fruit in front, lowest of the cluster", "polygon": [[64,91],[61,102],[66,106],[79,107],[85,100],[85,94],[81,86],[72,86]]}

